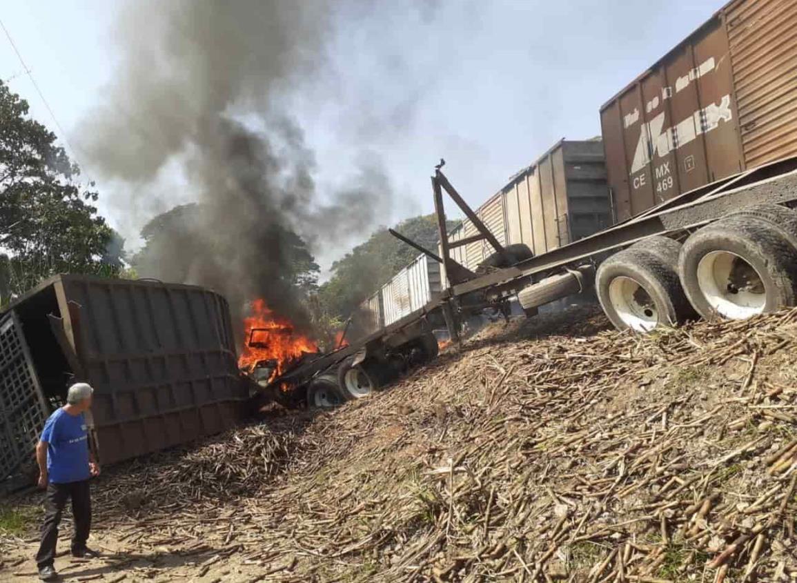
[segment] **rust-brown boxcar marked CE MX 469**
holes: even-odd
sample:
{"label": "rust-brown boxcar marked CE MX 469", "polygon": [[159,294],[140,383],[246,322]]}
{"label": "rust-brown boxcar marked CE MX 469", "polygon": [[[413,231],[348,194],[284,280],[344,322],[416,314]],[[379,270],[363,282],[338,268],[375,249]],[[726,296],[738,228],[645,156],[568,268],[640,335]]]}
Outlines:
{"label": "rust-brown boxcar marked CE MX 469", "polygon": [[601,108],[622,221],[797,154],[797,2],[735,0]]}

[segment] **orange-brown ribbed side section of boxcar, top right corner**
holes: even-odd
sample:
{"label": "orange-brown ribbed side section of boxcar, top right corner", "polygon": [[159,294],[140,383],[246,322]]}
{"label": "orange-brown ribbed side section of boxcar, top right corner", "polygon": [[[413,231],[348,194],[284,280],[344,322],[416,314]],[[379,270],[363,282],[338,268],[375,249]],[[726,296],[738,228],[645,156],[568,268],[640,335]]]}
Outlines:
{"label": "orange-brown ribbed side section of boxcar, top right corner", "polygon": [[748,167],[797,152],[797,4],[735,2],[726,13]]}

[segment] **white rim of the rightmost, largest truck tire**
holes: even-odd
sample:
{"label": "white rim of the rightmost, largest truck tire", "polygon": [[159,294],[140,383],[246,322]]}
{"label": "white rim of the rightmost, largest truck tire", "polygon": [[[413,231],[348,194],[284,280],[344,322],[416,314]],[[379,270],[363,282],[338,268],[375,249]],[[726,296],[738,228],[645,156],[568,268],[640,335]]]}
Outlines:
{"label": "white rim of the rightmost, largest truck tire", "polygon": [[761,275],[736,253],[713,251],[697,264],[697,287],[724,318],[740,320],[761,314],[767,292]]}

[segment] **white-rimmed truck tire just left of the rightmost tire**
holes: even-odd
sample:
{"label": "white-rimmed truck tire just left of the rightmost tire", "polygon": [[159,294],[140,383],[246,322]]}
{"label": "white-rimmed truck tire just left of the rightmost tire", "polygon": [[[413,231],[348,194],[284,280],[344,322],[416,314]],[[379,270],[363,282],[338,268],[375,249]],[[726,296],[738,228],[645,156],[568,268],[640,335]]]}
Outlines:
{"label": "white-rimmed truck tire just left of the rightmost tire", "polygon": [[672,259],[669,253],[640,246],[603,261],[595,289],[614,327],[649,332],[655,327],[676,326],[693,315]]}

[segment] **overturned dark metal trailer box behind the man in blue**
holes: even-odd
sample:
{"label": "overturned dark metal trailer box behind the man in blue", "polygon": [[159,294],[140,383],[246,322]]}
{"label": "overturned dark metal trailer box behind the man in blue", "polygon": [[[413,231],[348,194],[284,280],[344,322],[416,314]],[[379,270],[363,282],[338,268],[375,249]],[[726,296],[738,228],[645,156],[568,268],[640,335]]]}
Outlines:
{"label": "overturned dark metal trailer box behind the man in blue", "polygon": [[57,276],[9,315],[35,372],[15,389],[28,395],[27,409],[38,407],[31,414],[41,421],[73,380],[88,381],[105,464],[230,428],[248,396],[226,299],[204,288]]}

